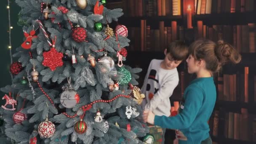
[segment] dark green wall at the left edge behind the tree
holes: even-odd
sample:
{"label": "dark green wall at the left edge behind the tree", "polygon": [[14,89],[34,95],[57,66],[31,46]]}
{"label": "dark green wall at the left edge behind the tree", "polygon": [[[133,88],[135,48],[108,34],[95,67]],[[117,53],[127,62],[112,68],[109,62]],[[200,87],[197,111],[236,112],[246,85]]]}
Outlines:
{"label": "dark green wall at the left edge behind the tree", "polygon": [[[23,39],[23,32],[21,27],[17,25],[18,21],[18,13],[20,11],[20,7],[16,5],[14,0],[10,0],[10,10],[11,10],[11,26],[13,29],[11,30],[11,40],[12,40],[12,51],[15,52],[16,47],[21,45]],[[10,53],[8,49],[9,43],[9,35],[8,35],[8,11],[7,11],[7,0],[3,0],[0,5],[0,13],[1,13],[1,22],[0,22],[0,88],[5,87],[5,85],[11,84],[11,76],[9,73],[10,66]],[[17,59],[13,59],[13,61],[17,61]],[[0,92],[0,98],[5,93]],[[0,101],[1,104],[5,103],[5,101]]]}

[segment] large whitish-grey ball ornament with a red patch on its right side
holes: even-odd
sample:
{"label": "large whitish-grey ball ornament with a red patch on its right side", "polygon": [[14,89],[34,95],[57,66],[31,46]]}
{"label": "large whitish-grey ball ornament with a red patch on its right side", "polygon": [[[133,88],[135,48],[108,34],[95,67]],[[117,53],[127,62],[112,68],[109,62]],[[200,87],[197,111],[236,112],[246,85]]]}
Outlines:
{"label": "large whitish-grey ball ornament with a red patch on its right side", "polygon": [[73,108],[78,104],[80,96],[76,91],[67,90],[61,93],[61,104],[66,108]]}

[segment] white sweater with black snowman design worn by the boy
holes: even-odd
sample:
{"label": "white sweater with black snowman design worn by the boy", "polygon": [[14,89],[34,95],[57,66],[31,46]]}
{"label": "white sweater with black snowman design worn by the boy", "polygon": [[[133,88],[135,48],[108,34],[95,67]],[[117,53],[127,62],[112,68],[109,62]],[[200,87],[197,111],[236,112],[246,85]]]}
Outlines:
{"label": "white sweater with black snowman design worn by the boy", "polygon": [[163,60],[153,59],[147,70],[141,92],[145,94],[142,108],[151,110],[155,115],[171,115],[170,97],[179,83],[179,74],[176,68],[163,69]]}

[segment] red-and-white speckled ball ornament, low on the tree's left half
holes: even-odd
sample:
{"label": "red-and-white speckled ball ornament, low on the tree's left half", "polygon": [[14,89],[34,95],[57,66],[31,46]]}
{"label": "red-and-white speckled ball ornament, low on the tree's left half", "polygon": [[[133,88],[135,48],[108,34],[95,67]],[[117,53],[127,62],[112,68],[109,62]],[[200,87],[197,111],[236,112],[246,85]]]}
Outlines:
{"label": "red-and-white speckled ball ornament, low on the tree's left half", "polygon": [[53,136],[54,132],[55,125],[48,121],[48,118],[46,118],[46,120],[40,123],[38,126],[38,133],[42,138],[50,138]]}

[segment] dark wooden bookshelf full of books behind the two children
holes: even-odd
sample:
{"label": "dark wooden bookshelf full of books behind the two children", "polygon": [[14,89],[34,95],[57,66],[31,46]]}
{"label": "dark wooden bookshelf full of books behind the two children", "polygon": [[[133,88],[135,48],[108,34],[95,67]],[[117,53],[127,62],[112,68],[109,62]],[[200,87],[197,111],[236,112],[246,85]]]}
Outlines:
{"label": "dark wooden bookshelf full of books behind the two children", "polygon": [[[110,1],[110,0],[109,0]],[[136,1],[136,0],[129,0],[131,1]],[[138,0],[138,3],[141,0]],[[146,1],[161,1],[161,0],[143,0],[142,7],[144,9],[144,4],[147,5]],[[165,0],[170,1],[172,0]],[[242,55],[242,61],[237,64],[226,64],[222,71],[221,75],[222,76],[217,76],[215,77],[215,83],[216,83],[216,90],[218,93],[217,100],[216,100],[216,105],[212,114],[211,119],[209,120],[209,125],[211,128],[210,134],[211,138],[214,142],[218,144],[256,144],[256,139],[253,137],[256,137],[256,38],[253,40],[250,39],[252,36],[251,34],[256,37],[256,2],[253,2],[253,0],[211,0],[212,1],[212,12],[209,14],[195,14],[197,13],[197,8],[192,8],[192,10],[196,10],[192,14],[192,29],[187,29],[187,14],[185,13],[186,6],[188,4],[194,5],[195,1],[203,1],[203,0],[180,0],[181,2],[181,15],[178,16],[172,16],[166,14],[166,16],[148,16],[147,11],[142,11],[143,16],[137,16],[136,12],[133,13],[135,16],[130,16],[125,15],[122,16],[120,19],[118,19],[118,24],[124,24],[125,26],[128,27],[128,38],[131,40],[131,47],[127,48],[128,50],[128,56],[127,56],[127,61],[125,61],[125,64],[130,65],[131,67],[141,67],[143,71],[140,73],[140,78],[139,78],[139,86],[142,85],[144,77],[147,72],[147,67],[149,65],[149,62],[152,59],[163,59],[163,48],[158,45],[155,45],[155,41],[160,41],[159,34],[161,32],[158,32],[158,35],[143,35],[141,32],[150,32],[157,30],[161,31],[162,34],[166,33],[165,27],[172,28],[171,29],[171,34],[173,36],[173,32],[175,32],[175,39],[180,39],[184,40],[188,45],[191,44],[194,40],[200,39],[200,38],[207,38],[213,41],[218,40],[218,35],[219,33],[223,34],[223,39],[224,41],[227,41],[228,43],[232,44],[237,48],[238,51],[240,51]],[[208,0],[204,0],[208,1]],[[236,5],[234,6],[234,1],[236,1]],[[117,5],[120,6],[120,2],[123,3],[124,0],[115,0],[115,3],[118,3]],[[145,2],[145,3],[144,3]],[[128,2],[127,2],[128,3]],[[220,3],[221,7],[218,7],[217,4]],[[253,3],[253,4],[252,4]],[[129,3],[128,3],[129,4]],[[155,3],[154,3],[155,4]],[[198,5],[198,3],[196,3]],[[224,5],[224,6],[223,6]],[[128,5],[129,6],[129,5]],[[159,6],[159,5],[158,5]],[[123,6],[124,8],[125,6]],[[138,6],[135,6],[135,9],[139,8]],[[157,7],[158,8],[158,7]],[[157,11],[157,8],[154,9]],[[162,7],[163,8],[163,7]],[[166,6],[167,8],[167,6]],[[230,10],[233,10],[231,13]],[[133,10],[135,10],[133,9]],[[206,5],[205,5],[205,9]],[[243,9],[243,10],[242,10]],[[124,8],[124,13],[129,13],[131,9]],[[242,12],[243,11],[243,12]],[[141,11],[140,11],[141,12]],[[157,11],[158,12],[158,11]],[[163,12],[163,11],[162,11]],[[200,11],[202,12],[202,11]],[[167,13],[167,9],[166,9]],[[138,13],[137,13],[138,14]],[[155,13],[157,14],[157,13]],[[169,13],[170,14],[170,13]],[[140,13],[141,15],[141,13]],[[149,31],[147,31],[147,28],[145,26],[141,25],[141,20],[146,20],[146,26],[149,26]],[[173,25],[172,22],[176,22],[176,31],[173,31]],[[198,24],[198,21],[201,23]],[[251,28],[251,25],[253,24],[253,28]],[[255,25],[254,25],[255,24]],[[199,27],[200,26],[200,27]],[[112,26],[115,27],[115,26]],[[164,27],[164,29],[163,29]],[[219,29],[221,27],[221,29]],[[141,29],[144,29],[144,31],[141,31]],[[137,30],[138,32],[134,32],[133,30]],[[175,30],[174,29],[174,30]],[[210,29],[212,31],[210,31]],[[230,31],[231,29],[231,31]],[[234,30],[236,29],[236,30]],[[240,29],[240,33],[236,32],[238,29]],[[247,31],[244,31],[244,29]],[[170,31],[169,31],[170,32]],[[250,33],[250,34],[249,34]],[[230,37],[229,37],[230,35]],[[244,35],[247,35],[247,37],[244,38]],[[250,35],[250,36],[249,36]],[[165,37],[166,35],[164,35]],[[146,37],[142,38],[141,37]],[[163,36],[162,36],[163,37]],[[168,37],[168,30],[167,30],[167,37]],[[237,42],[240,40],[240,44]],[[144,40],[144,48],[141,46],[141,40]],[[165,39],[164,41],[168,40],[168,42],[174,40],[173,38],[171,39]],[[247,40],[246,42],[243,42],[244,40]],[[136,41],[136,43],[133,43]],[[153,43],[151,43],[153,41]],[[163,41],[162,41],[163,42]],[[254,45],[250,45],[250,43],[254,43]],[[149,45],[152,45],[154,48],[147,48],[147,43]],[[160,42],[161,43],[161,42]],[[163,45],[162,45],[163,46]],[[166,46],[166,45],[164,45]],[[253,49],[252,49],[253,48]],[[136,58],[136,59],[135,59]],[[249,68],[248,75],[245,76],[245,67]],[[187,69],[186,69],[186,64],[185,62],[182,63],[178,67],[179,72],[184,72],[184,81],[180,82],[178,87],[175,89],[173,92],[173,96],[171,97],[171,101],[180,101],[181,99],[181,84],[187,87],[189,82],[193,80],[194,76],[187,74]],[[181,75],[181,74],[180,74]],[[221,98],[221,91],[219,91],[218,87],[221,86],[223,87],[224,84],[226,83],[227,85],[231,85],[230,79],[227,79],[228,81],[223,81],[220,83],[218,81],[218,78],[223,79],[223,75],[230,76],[230,75],[235,75],[235,81],[233,80],[232,82],[235,82],[235,85],[232,88],[234,89],[235,94],[232,93],[230,94],[230,90],[228,88],[228,93],[227,95],[230,96],[235,96],[235,99],[229,100],[229,99],[220,99]],[[245,77],[247,77],[247,85],[248,85],[248,90],[247,90],[247,101],[245,102]],[[180,77],[181,80],[181,77]],[[232,79],[231,79],[232,80]],[[222,91],[223,93],[223,91]],[[242,110],[243,109],[243,110]],[[247,110],[246,115],[242,112],[244,110]],[[215,135],[213,134],[213,121],[214,121],[214,115],[215,111],[219,111],[219,123],[217,127],[218,134]],[[243,123],[240,122],[240,128],[239,131],[245,131],[243,127],[247,128],[247,132],[245,132],[248,138],[245,138],[244,134],[241,134],[240,132],[238,133],[240,135],[239,138],[237,138],[237,133],[234,131],[237,130],[235,128],[227,129],[227,125],[235,125],[235,120],[231,121],[232,124],[229,124],[229,120],[227,120],[227,117],[235,117],[234,115],[240,115],[240,120],[243,121],[246,119],[242,120],[242,117],[247,117],[246,124],[243,126]],[[255,121],[253,122],[253,119]],[[234,126],[235,127],[235,126]],[[233,136],[227,134],[233,130],[232,134]],[[171,143],[171,141],[168,141]],[[168,144],[169,144],[168,143]]]}

